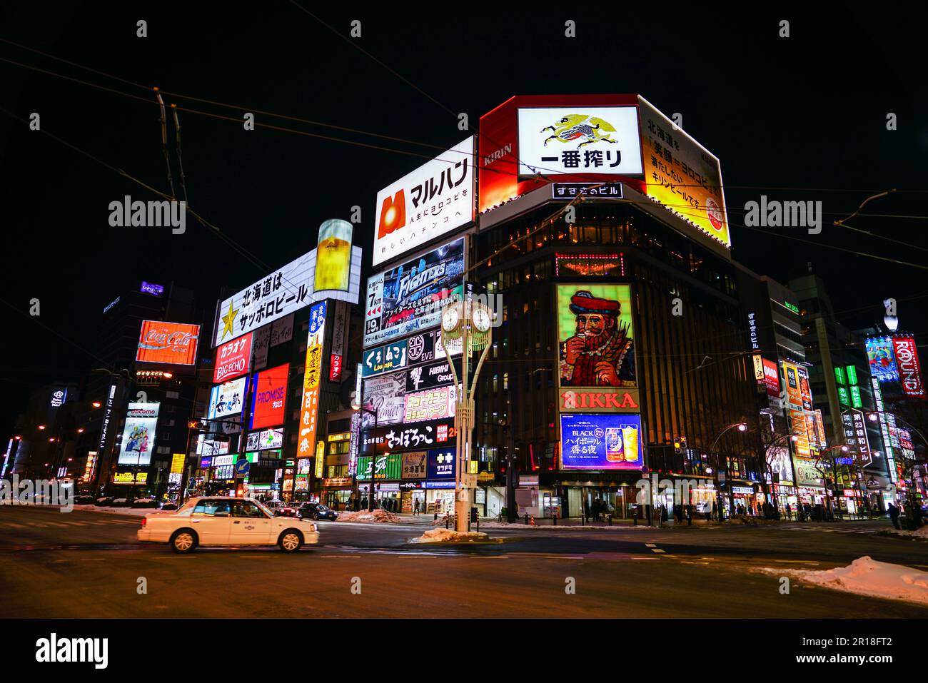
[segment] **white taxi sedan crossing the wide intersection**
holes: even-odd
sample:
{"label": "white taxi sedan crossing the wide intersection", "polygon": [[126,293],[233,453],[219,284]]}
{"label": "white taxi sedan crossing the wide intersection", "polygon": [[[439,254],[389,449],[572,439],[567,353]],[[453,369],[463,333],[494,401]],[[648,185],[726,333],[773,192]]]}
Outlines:
{"label": "white taxi sedan crossing the wide intersection", "polygon": [[319,542],[313,522],[275,517],[252,498],[205,496],[190,498],[181,509],[153,512],[142,518],[139,541],[167,543],[175,552],[197,546],[279,546],[296,552]]}

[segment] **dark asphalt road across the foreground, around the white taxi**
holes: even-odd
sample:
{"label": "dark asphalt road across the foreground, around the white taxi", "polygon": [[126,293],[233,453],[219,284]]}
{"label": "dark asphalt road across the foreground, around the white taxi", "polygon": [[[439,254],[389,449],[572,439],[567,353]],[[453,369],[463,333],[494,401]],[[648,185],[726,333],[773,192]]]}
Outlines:
{"label": "dark asphalt road across the foreground, around the white taxi", "polygon": [[0,616],[928,617],[928,608],[795,581],[781,595],[776,574],[754,571],[830,569],[863,555],[928,570],[928,543],[874,534],[887,522],[489,529],[501,542],[464,548],[408,545],[421,526],[320,522],[320,545],[296,555],[178,555],[137,543],[139,523],[0,507]]}

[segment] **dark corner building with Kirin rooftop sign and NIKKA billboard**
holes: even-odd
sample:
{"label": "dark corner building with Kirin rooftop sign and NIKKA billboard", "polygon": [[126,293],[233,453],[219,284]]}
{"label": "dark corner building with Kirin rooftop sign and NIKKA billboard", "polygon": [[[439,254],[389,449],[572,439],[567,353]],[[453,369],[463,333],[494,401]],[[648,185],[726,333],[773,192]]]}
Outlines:
{"label": "dark corner building with Kirin rooftop sign and NIKKA billboard", "polygon": [[[475,393],[483,513],[505,505],[508,448],[521,515],[629,517],[643,475],[696,480],[702,515],[753,489],[756,437],[730,429],[756,389],[718,160],[642,97],[569,96],[485,115],[479,161],[472,277],[500,304]],[[690,502],[656,489],[671,514]]]}

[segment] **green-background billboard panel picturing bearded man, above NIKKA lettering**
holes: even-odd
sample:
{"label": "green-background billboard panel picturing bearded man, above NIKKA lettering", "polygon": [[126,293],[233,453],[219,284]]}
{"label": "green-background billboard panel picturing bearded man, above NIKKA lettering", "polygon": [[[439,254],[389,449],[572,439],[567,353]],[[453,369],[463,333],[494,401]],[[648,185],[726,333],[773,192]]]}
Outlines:
{"label": "green-background billboard panel picturing bearded man, above NIKKA lettering", "polygon": [[561,388],[622,387],[639,403],[631,287],[558,285],[557,298]]}

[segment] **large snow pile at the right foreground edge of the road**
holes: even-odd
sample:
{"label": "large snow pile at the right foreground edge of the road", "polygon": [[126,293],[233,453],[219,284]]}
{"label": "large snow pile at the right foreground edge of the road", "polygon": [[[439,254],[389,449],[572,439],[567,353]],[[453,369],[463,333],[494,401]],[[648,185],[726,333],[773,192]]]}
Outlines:
{"label": "large snow pile at the right foreground edge of the road", "polygon": [[809,584],[845,590],[871,598],[909,600],[928,605],[928,572],[910,569],[901,564],[878,562],[870,556],[857,558],[846,567],[826,571],[779,568],[761,571],[795,576]]}

